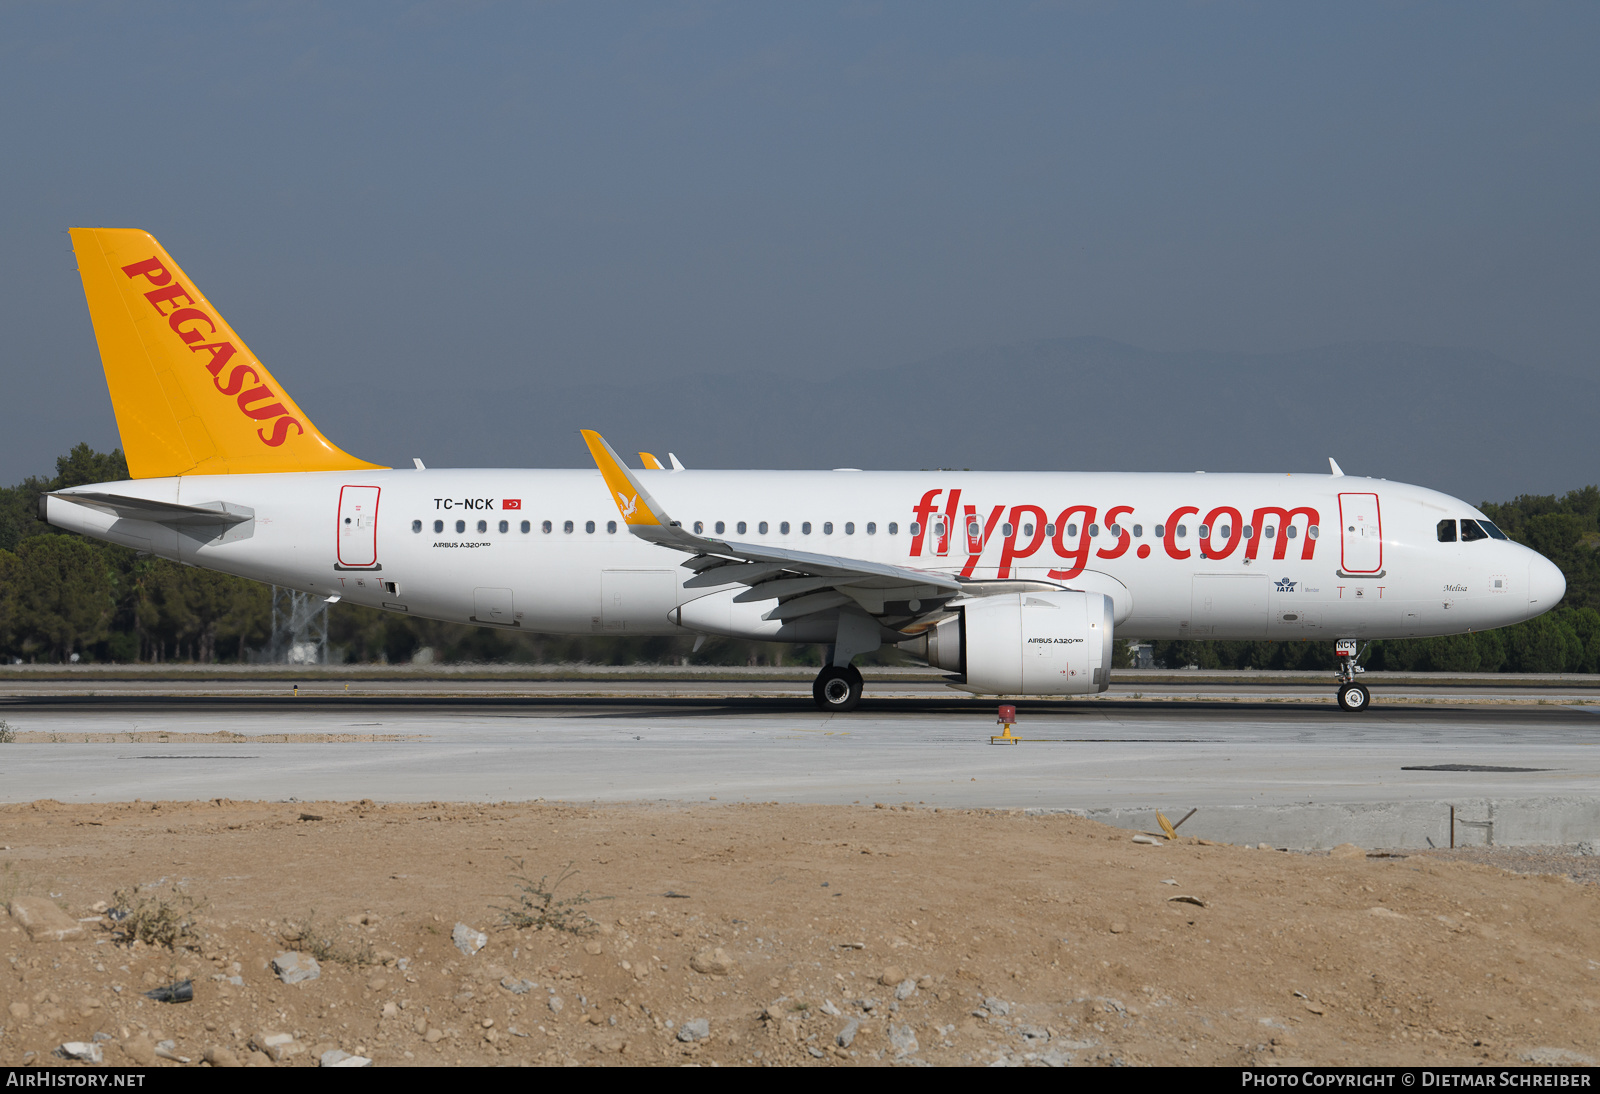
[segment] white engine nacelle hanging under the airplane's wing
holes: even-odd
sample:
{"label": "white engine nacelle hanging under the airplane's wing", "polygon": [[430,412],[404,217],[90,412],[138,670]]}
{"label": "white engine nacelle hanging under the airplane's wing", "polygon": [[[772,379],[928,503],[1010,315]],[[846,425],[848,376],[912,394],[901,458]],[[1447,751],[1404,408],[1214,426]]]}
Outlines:
{"label": "white engine nacelle hanging under the airplane's wing", "polygon": [[958,673],[955,685],[986,696],[1083,696],[1110,686],[1110,597],[1022,592],[955,606],[914,643],[930,665]]}

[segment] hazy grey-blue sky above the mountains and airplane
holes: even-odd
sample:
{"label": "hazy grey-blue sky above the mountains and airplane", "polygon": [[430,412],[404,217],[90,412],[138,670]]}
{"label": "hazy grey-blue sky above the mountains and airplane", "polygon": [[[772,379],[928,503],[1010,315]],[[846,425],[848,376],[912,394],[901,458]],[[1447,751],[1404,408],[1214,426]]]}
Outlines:
{"label": "hazy grey-blue sky above the mountains and airplane", "polygon": [[80,224],[155,234],[334,441],[1062,337],[1592,379],[1597,56],[1592,3],[5,5],[0,481],[117,443]]}

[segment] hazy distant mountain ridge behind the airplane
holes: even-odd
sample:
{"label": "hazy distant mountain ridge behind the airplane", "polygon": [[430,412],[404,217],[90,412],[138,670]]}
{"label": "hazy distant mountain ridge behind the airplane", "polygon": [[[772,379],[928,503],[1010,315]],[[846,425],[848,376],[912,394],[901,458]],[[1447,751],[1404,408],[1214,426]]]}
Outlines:
{"label": "hazy distant mountain ridge behind the airplane", "polygon": [[842,376],[459,381],[296,397],[344,448],[400,465],[581,467],[576,430],[594,427],[691,467],[1326,472],[1333,456],[1472,502],[1600,481],[1600,382],[1400,342],[1251,355],[1080,337]]}

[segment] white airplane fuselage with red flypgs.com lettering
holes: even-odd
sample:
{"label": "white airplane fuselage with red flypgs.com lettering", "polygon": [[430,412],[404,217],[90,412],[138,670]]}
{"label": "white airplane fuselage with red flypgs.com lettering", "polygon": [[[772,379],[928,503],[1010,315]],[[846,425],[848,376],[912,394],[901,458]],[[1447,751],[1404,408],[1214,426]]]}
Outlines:
{"label": "white airplane fuselage with red flypgs.com lettering", "polygon": [[[1440,542],[1440,521],[1482,518],[1472,505],[1371,478],[658,470],[640,481],[707,536],[1101,592],[1118,637],[1446,635],[1530,619],[1565,590],[1550,561],[1515,542]],[[80,489],[246,507],[254,520],[226,534],[59,496],[48,520],[371,608],[550,633],[827,640],[762,624],[770,603],[723,611],[722,622],[693,611],[680,617],[698,625],[674,622],[674,609],[715,590],[683,589],[685,555],[627,533],[597,470],[206,475]]]}

